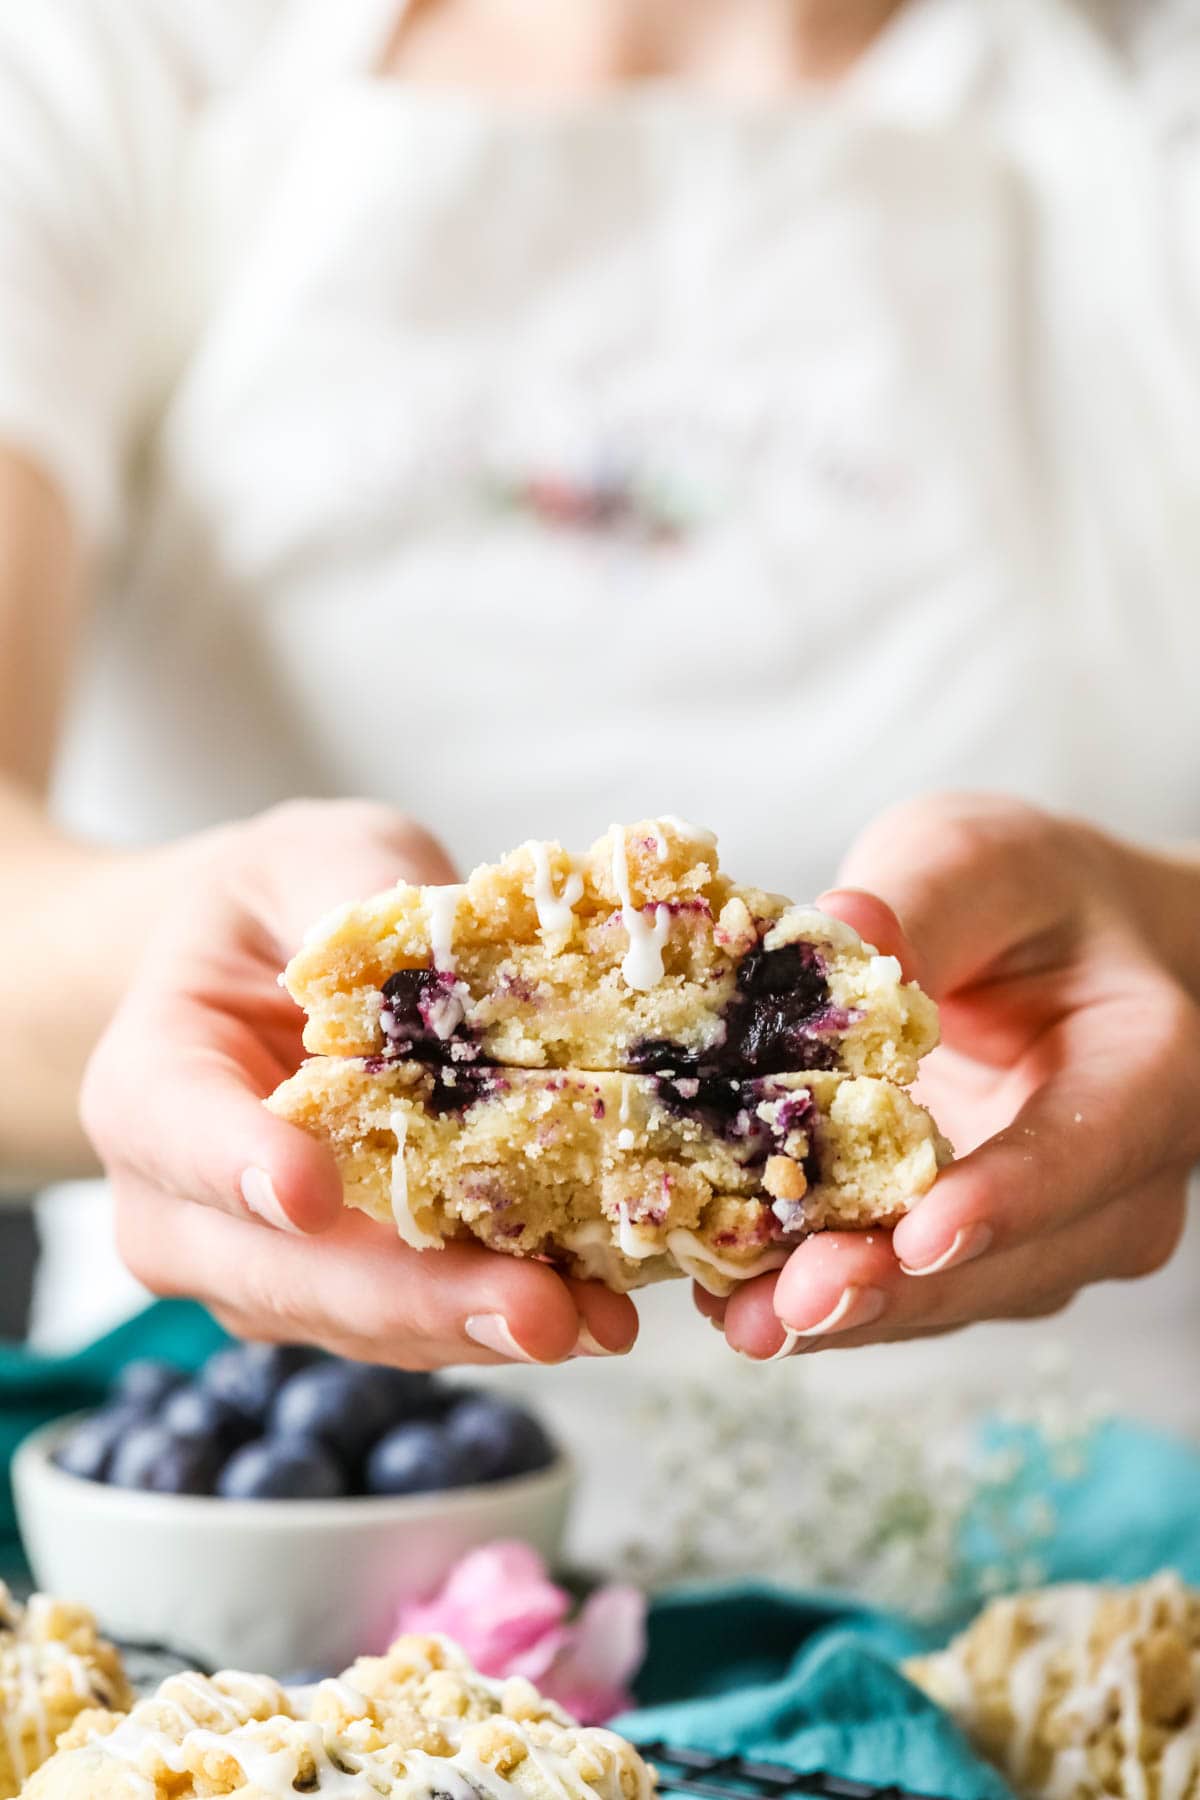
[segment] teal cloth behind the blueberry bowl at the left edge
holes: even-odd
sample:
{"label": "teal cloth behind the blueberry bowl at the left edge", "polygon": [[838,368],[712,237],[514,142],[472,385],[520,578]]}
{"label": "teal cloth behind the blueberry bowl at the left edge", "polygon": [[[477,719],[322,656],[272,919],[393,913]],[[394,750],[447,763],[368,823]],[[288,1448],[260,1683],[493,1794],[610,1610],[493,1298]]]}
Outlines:
{"label": "teal cloth behind the blueberry bowl at the left edge", "polygon": [[76,1355],[34,1355],[0,1343],[0,1577],[20,1571],[9,1465],[22,1438],[97,1406],[113,1375],[137,1357],[166,1357],[191,1370],[227,1343],[227,1332],[191,1300],[158,1300]]}

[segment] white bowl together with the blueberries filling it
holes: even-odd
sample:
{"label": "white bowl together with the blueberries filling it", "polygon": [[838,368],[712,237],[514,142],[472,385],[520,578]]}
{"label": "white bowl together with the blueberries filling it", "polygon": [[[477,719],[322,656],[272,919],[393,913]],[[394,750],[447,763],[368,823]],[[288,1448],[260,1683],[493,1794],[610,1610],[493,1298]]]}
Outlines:
{"label": "white bowl together with the blueberries filling it", "polygon": [[95,1413],[22,1444],[38,1586],[128,1643],[320,1674],[502,1537],[561,1548],[570,1465],[498,1390],[232,1345],[196,1375],[130,1363]]}

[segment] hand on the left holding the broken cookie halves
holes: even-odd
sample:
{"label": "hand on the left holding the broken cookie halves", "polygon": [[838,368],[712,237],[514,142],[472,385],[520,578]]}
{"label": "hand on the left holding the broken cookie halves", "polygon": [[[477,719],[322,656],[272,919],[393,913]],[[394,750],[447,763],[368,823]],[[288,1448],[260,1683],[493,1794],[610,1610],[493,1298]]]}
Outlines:
{"label": "hand on the left holding the broken cookie halves", "polygon": [[480,1244],[408,1249],[342,1206],[326,1145],[259,1103],[299,1066],[277,977],[308,925],[392,882],[453,880],[419,826],[365,803],[293,803],[191,846],[185,898],[101,1039],[83,1121],[117,1242],[158,1294],[243,1337],[434,1368],[626,1350],[628,1298]]}

